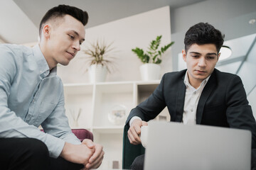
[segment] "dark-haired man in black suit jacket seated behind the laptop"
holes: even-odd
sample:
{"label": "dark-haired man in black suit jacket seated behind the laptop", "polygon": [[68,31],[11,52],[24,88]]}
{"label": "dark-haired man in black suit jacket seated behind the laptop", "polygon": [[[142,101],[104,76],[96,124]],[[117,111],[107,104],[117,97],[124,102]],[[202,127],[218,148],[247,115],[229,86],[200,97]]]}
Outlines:
{"label": "dark-haired man in black suit jacket seated behind the laptop", "polygon": [[[240,77],[215,69],[223,38],[208,23],[188,29],[182,50],[187,69],[164,74],[153,94],[132,109],[127,118],[131,144],[141,143],[142,125],[167,106],[173,122],[250,130],[252,150],[256,148],[255,118]],[[143,169],[143,162],[144,156],[137,157],[132,169]],[[252,162],[255,164],[255,153]]]}

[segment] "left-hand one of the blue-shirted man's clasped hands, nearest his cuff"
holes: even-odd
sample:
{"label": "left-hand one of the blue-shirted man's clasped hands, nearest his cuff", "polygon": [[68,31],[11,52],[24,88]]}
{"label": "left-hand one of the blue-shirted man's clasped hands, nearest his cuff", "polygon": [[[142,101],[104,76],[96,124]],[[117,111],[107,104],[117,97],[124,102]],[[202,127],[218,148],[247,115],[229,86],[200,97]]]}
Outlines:
{"label": "left-hand one of the blue-shirted man's clasped hands, nearest his cuff", "polygon": [[65,142],[60,157],[63,157],[69,162],[76,164],[86,164],[89,163],[90,157],[95,153],[95,148],[87,147],[87,145],[73,145],[68,142]]}

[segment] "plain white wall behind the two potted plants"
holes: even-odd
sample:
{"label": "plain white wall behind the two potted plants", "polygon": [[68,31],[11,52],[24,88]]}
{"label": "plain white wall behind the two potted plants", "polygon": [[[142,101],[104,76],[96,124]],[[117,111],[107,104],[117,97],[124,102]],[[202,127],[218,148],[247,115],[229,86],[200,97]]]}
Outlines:
{"label": "plain white wall behind the two potted plants", "polygon": [[[85,45],[97,39],[104,39],[106,42],[114,41],[113,47],[118,51],[117,69],[108,75],[107,81],[140,80],[139,66],[142,62],[132,52],[132,48],[140,47],[146,50],[149,42],[157,35],[163,35],[161,45],[171,42],[169,6],[88,28],[85,32]],[[58,74],[63,79],[63,83],[88,82],[82,57],[82,52],[79,52],[67,67],[58,67]],[[172,71],[171,61],[169,50],[161,64],[161,75]]]}

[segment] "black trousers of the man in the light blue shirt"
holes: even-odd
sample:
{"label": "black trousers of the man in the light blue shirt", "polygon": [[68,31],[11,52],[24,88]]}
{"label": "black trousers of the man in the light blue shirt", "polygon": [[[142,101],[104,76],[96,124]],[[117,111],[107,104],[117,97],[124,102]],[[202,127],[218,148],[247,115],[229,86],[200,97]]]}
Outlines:
{"label": "black trousers of the man in the light blue shirt", "polygon": [[33,138],[0,138],[0,169],[82,169],[82,164],[74,164],[58,157],[49,157],[48,148]]}

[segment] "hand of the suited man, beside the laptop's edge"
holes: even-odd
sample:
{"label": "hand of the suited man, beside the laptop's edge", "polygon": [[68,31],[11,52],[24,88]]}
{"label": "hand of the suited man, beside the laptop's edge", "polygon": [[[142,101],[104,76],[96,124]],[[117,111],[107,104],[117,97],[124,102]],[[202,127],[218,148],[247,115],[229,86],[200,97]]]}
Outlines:
{"label": "hand of the suited man, beside the laptop's edge", "polygon": [[148,125],[148,124],[143,120],[139,120],[139,119],[133,120],[132,125],[128,130],[128,138],[131,144],[138,145],[142,143],[142,141],[139,138],[139,135],[141,133],[141,127],[143,125]]}

